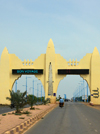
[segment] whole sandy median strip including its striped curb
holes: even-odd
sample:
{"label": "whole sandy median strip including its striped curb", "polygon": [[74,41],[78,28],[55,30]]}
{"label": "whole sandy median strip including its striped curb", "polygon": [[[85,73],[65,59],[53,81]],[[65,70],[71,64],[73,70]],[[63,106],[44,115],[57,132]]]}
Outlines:
{"label": "whole sandy median strip including its striped curb", "polygon": [[[26,131],[31,127],[36,121],[42,119],[47,113],[57,107],[58,104],[47,104],[34,106],[36,110],[29,110],[29,108],[24,108],[23,110],[29,110],[30,115],[14,115],[6,113],[6,116],[0,115],[0,133],[4,134],[18,134]],[[13,111],[14,112],[14,111]],[[12,113],[12,112],[9,112]]]}

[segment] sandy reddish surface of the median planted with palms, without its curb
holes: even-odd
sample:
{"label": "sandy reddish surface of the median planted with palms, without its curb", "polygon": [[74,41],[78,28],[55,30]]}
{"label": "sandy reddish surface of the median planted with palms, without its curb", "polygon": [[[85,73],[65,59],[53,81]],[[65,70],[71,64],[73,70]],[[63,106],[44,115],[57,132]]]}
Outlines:
{"label": "sandy reddish surface of the median planted with palms, without its curb", "polygon": [[[39,114],[42,111],[44,111],[54,105],[56,105],[56,104],[34,106],[35,110],[30,110],[30,108],[24,108],[23,111],[28,110],[29,112],[31,112],[30,116],[27,116],[27,114],[22,114],[22,115],[6,114],[6,116],[2,116],[2,114],[0,114],[0,134],[4,134],[6,131],[9,131],[10,129],[25,122],[30,117],[33,117],[36,114]],[[12,113],[12,112],[9,112],[9,113]],[[25,119],[19,119],[19,117],[25,117]]]}

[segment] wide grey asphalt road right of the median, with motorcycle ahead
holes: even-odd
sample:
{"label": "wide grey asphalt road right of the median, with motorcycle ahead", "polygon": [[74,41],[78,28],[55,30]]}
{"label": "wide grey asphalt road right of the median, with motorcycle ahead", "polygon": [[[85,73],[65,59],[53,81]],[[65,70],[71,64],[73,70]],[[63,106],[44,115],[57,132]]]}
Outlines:
{"label": "wide grey asphalt road right of the median, with motorcycle ahead", "polygon": [[100,134],[100,111],[79,102],[57,107],[24,134]]}

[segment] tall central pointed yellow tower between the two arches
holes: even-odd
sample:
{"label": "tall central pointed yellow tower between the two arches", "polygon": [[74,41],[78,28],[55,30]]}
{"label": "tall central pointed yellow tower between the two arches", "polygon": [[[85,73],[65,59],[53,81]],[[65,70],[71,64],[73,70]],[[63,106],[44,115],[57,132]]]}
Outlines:
{"label": "tall central pointed yellow tower between the two arches", "polygon": [[[51,98],[52,103],[56,101],[55,89],[55,48],[52,39],[49,40],[46,50],[46,62],[45,62],[45,97]],[[54,82],[54,83],[53,83]]]}

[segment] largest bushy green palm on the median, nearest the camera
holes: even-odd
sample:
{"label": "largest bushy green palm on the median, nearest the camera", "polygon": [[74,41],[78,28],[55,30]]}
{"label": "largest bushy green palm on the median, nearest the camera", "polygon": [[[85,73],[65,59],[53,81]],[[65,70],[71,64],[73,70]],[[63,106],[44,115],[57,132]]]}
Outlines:
{"label": "largest bushy green palm on the median, nearest the camera", "polygon": [[20,113],[19,108],[22,108],[24,105],[27,104],[27,98],[25,97],[27,92],[25,91],[24,93],[20,93],[20,90],[17,90],[17,92],[9,90],[9,92],[10,97],[6,97],[6,99],[8,99],[9,101],[11,101],[11,103],[14,104],[16,108],[16,113]]}

